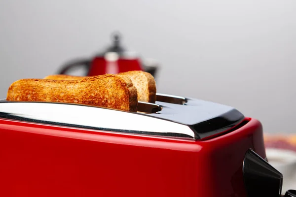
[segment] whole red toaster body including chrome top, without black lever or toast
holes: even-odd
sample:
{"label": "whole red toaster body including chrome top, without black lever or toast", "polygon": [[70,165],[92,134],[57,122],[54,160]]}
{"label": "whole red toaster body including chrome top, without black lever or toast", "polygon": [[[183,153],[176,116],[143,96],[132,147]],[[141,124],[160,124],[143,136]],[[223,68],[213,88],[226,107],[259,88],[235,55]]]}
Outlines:
{"label": "whole red toaster body including chrome top, without black lever or toast", "polygon": [[246,197],[245,153],[266,158],[260,122],[218,103],[157,100],[137,113],[0,101],[0,196]]}

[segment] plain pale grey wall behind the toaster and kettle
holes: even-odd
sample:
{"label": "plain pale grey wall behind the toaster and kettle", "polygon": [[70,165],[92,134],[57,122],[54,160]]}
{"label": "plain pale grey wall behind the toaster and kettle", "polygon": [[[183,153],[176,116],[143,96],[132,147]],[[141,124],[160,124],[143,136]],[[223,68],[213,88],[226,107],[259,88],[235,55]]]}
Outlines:
{"label": "plain pale grey wall behind the toaster and kettle", "polygon": [[296,132],[295,0],[0,0],[0,97],[21,78],[122,44],[159,64],[157,92],[231,105]]}

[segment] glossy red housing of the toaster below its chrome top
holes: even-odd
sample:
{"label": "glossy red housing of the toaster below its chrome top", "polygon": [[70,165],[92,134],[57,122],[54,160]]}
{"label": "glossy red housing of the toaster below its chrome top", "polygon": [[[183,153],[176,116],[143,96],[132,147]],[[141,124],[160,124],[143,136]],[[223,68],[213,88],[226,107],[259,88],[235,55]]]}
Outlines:
{"label": "glossy red housing of the toaster below its chrome top", "polygon": [[245,197],[249,122],[205,141],[164,139],[0,119],[0,197]]}

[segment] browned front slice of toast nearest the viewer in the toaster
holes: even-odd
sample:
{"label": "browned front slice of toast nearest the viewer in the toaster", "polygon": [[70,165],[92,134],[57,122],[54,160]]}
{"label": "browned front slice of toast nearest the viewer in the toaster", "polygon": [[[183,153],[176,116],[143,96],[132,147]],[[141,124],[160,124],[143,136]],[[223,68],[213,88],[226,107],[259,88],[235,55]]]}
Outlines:
{"label": "browned front slice of toast nearest the viewer in the toaster", "polygon": [[21,79],[12,83],[6,100],[86,104],[137,111],[137,89],[121,75],[99,75],[82,80]]}

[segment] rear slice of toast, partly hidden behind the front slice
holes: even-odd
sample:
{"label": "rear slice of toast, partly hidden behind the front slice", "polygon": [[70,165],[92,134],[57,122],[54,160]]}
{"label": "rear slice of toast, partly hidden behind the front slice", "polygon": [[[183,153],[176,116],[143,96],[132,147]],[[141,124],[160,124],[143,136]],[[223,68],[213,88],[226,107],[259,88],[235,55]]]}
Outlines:
{"label": "rear slice of toast, partly hidden behind the front slice", "polygon": [[[156,100],[156,83],[154,77],[144,71],[128,71],[121,72],[117,75],[124,75],[130,77],[134,86],[137,88],[138,101],[155,103]],[[83,76],[71,76],[71,75],[49,75],[44,79],[54,79],[54,80],[81,80],[84,79]]]}

